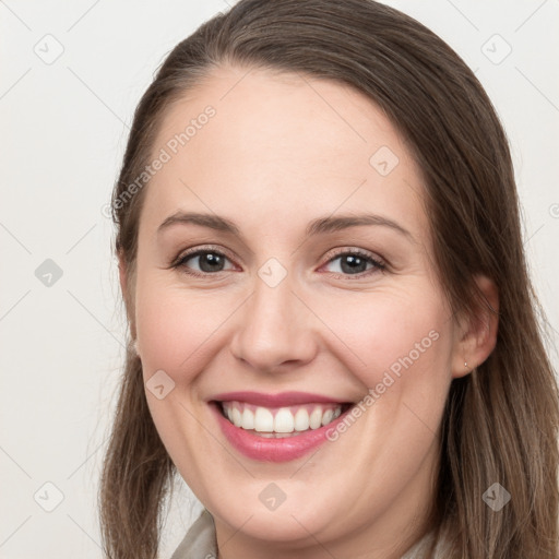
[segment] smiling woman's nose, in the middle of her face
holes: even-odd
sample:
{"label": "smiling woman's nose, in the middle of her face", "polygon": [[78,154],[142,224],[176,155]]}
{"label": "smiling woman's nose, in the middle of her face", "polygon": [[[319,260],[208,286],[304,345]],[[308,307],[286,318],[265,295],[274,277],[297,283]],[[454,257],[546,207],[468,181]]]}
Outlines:
{"label": "smiling woman's nose, in the middle of her face", "polygon": [[254,292],[242,306],[231,352],[263,372],[305,365],[318,350],[317,323],[312,318],[294,293],[289,276],[275,287],[257,276]]}

